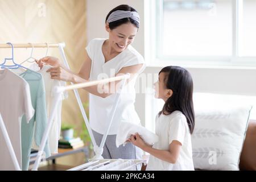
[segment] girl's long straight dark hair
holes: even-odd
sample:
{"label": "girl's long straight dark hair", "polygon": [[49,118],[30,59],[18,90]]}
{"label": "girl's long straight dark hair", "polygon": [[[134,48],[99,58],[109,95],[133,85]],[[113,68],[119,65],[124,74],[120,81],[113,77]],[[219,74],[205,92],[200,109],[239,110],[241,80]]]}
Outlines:
{"label": "girl's long straight dark hair", "polygon": [[175,110],[181,111],[187,118],[188,127],[192,134],[195,127],[192,77],[186,69],[181,67],[164,67],[159,75],[162,72],[165,73],[166,88],[171,89],[173,94],[168,98],[159,115],[169,115]]}

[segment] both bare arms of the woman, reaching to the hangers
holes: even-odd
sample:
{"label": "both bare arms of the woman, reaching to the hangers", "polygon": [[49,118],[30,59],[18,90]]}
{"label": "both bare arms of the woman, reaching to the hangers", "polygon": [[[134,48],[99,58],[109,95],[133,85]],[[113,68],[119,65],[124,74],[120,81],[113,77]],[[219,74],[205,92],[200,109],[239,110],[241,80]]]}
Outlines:
{"label": "both bare arms of the woman, reaching to the hangers", "polygon": [[[88,56],[87,52],[85,55],[85,61],[82,64],[82,67],[79,73],[72,72],[70,69],[66,68],[63,64],[61,64],[60,61],[57,60],[55,57],[44,57],[43,59],[40,59],[38,63],[39,67],[42,66],[42,62],[55,66],[55,68],[51,68],[47,71],[51,73],[52,79],[73,82],[75,84],[78,84],[81,82],[88,82],[89,80],[92,60]],[[142,66],[143,64],[124,67],[115,76],[120,76],[126,73],[130,73],[131,77],[127,81],[129,82],[135,76],[135,73],[137,73],[139,69],[142,68]],[[117,92],[120,86],[119,84],[120,82],[121,81],[109,82],[109,84],[106,84],[106,85],[94,85],[94,86],[86,87],[84,89],[91,94],[105,98]]]}

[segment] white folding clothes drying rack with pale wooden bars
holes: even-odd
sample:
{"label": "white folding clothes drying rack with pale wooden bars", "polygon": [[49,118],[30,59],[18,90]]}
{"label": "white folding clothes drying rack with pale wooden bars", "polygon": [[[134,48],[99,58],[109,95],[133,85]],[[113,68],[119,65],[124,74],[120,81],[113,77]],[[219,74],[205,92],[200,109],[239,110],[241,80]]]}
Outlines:
{"label": "white folding clothes drying rack with pale wooden bars", "polygon": [[[58,44],[47,44],[47,43],[46,44],[30,44],[30,43],[28,43],[28,44],[13,44],[13,47],[14,48],[52,48],[52,47],[59,48],[60,55],[61,55],[61,57],[63,59],[65,67],[70,69],[69,65],[68,65],[67,57],[65,56],[65,53],[64,53],[65,43],[58,43]],[[0,44],[0,48],[11,48],[11,46],[9,44]],[[60,101],[61,93],[65,92],[67,90],[73,90],[73,92],[75,93],[77,103],[79,104],[80,111],[82,113],[82,117],[84,118],[85,125],[86,125],[86,127],[88,129],[90,138],[92,140],[93,150],[94,150],[94,153],[95,153],[95,156],[93,157],[92,160],[97,160],[97,163],[101,163],[101,164],[104,163],[105,164],[106,160],[108,161],[108,159],[104,160],[102,158],[103,147],[104,147],[104,144],[105,144],[105,141],[106,141],[106,137],[107,137],[107,135],[109,133],[109,129],[110,129],[111,125],[112,125],[112,121],[113,121],[113,118],[114,118],[115,110],[117,109],[117,104],[119,102],[119,98],[120,98],[123,86],[125,85],[125,82],[129,78],[130,78],[130,75],[128,73],[128,74],[122,75],[122,76],[106,78],[106,79],[103,79],[103,80],[89,81],[89,82],[84,82],[84,83],[81,83],[81,84],[73,84],[71,82],[71,85],[68,85],[68,86],[56,86],[55,88],[53,88],[53,93],[55,93],[55,98],[53,99],[52,104],[53,104],[54,107],[51,110],[51,113],[49,115],[46,131],[44,131],[44,135],[43,135],[42,141],[40,143],[38,155],[36,156],[36,161],[35,161],[35,164],[34,164],[34,167],[32,168],[32,170],[33,171],[38,170],[39,164],[40,164],[40,162],[42,160],[42,156],[43,156],[43,149],[44,149],[44,147],[46,145],[46,141],[47,141],[47,138],[48,138],[49,130],[51,129],[51,126],[52,126],[52,123],[53,123],[53,117],[54,117],[54,114],[56,112],[56,105],[57,105],[56,103],[58,103]],[[79,95],[79,92],[78,92],[77,89],[85,88],[85,87],[93,86],[93,85],[98,85],[98,84],[106,84],[108,82],[119,81],[119,80],[122,81],[121,82],[121,87],[119,89],[119,92],[117,92],[117,97],[115,98],[115,102],[114,102],[115,104],[113,105],[113,108],[112,108],[112,114],[111,114],[111,118],[110,118],[110,123],[109,123],[108,129],[105,131],[105,134],[104,134],[104,136],[102,138],[100,146],[97,146],[96,140],[94,139],[94,136],[93,136],[93,133],[92,133],[92,129],[90,128],[90,124],[89,124],[88,118],[86,116],[84,107],[82,106],[81,98],[80,98],[80,95]],[[9,145],[11,145],[10,139],[6,140],[6,142],[9,143]],[[13,155],[12,152],[11,152],[11,155]],[[14,156],[15,156],[15,154],[14,154]],[[110,162],[113,162],[113,160],[111,160],[111,159],[109,159],[109,160],[110,160]],[[121,159],[119,159],[119,161],[121,161],[122,163],[127,162],[127,161],[121,160]],[[134,166],[134,165],[137,166],[138,164],[146,162],[146,160],[131,160],[131,161],[133,161],[133,163],[131,163],[131,166]],[[14,160],[14,162],[15,162],[15,160]],[[83,164],[83,165],[90,166],[90,163],[91,162],[89,162],[88,164],[87,163]],[[97,165],[100,165],[100,164],[97,164]],[[73,168],[73,169],[80,169],[80,168],[81,168],[81,166],[79,168]]]}

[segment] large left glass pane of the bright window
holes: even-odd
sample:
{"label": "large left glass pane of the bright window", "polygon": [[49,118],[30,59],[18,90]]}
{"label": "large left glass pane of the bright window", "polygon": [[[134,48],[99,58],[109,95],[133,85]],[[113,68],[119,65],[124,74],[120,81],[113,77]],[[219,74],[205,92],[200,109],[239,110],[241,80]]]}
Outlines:
{"label": "large left glass pane of the bright window", "polygon": [[231,5],[231,0],[164,0],[160,55],[231,56]]}

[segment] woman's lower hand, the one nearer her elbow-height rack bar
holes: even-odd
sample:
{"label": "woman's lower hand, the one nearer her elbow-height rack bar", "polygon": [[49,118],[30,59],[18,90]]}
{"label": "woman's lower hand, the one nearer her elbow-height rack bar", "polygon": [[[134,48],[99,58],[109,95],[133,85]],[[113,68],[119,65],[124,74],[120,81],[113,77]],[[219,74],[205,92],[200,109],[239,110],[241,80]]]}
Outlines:
{"label": "woman's lower hand, the one nearer her elbow-height rack bar", "polygon": [[61,67],[50,68],[47,72],[50,72],[51,78],[54,80],[72,81],[72,74]]}

